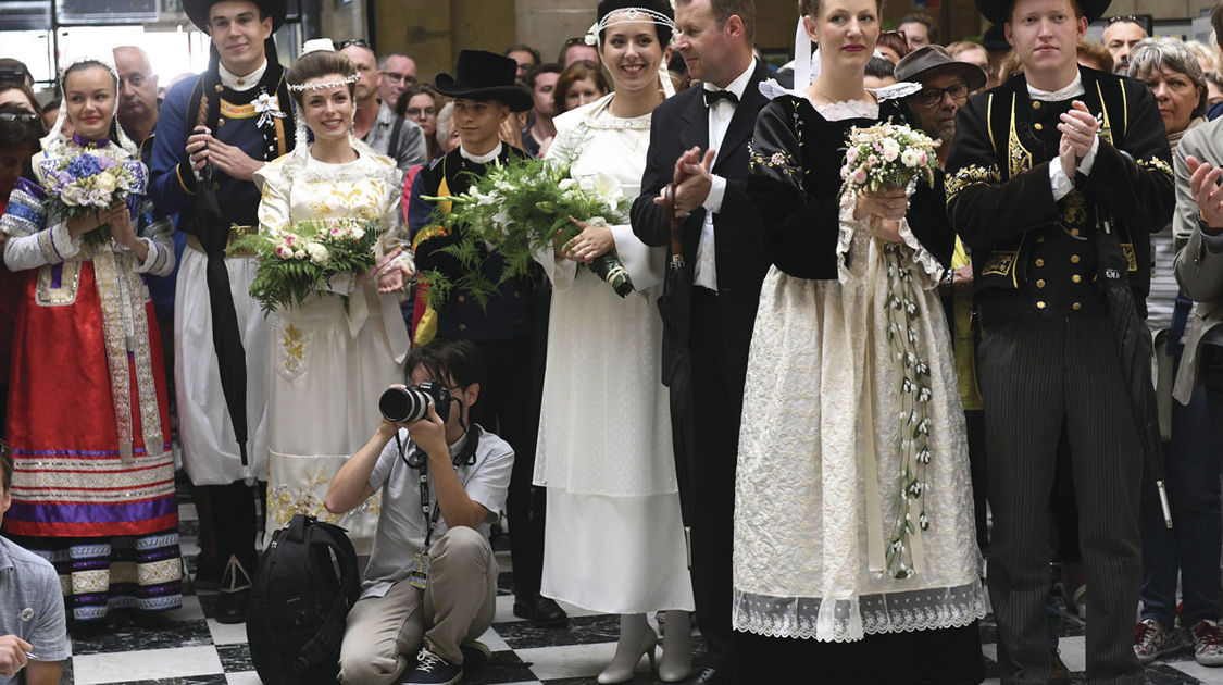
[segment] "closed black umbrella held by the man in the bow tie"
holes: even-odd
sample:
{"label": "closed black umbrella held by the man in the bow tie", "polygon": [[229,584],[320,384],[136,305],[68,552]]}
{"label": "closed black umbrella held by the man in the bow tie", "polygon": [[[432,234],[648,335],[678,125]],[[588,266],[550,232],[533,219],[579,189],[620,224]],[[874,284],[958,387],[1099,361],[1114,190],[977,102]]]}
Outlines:
{"label": "closed black umbrella held by the man in the bow tie", "polygon": [[[692,354],[689,335],[692,323],[692,279],[684,264],[684,224],[675,215],[675,186],[665,193],[667,217],[671,223],[671,259],[667,265],[658,313],[663,317],[663,384],[670,389],[671,444],[675,451],[675,481],[680,491],[680,516],[685,538],[691,536],[696,472],[696,429],[692,424]],[[689,564],[692,553],[689,544]]]}

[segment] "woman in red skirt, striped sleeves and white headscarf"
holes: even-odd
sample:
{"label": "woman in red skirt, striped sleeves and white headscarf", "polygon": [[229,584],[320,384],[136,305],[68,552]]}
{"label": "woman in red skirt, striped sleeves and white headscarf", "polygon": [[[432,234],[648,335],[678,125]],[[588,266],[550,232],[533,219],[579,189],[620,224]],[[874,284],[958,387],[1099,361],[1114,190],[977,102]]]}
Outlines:
{"label": "woman in red skirt, striped sleeves and white headscarf", "polygon": [[[174,228],[154,217],[147,170],[115,119],[109,51],[71,62],[60,87],[64,108],[33,177],[18,181],[0,220],[5,264],[34,272],[13,338],[4,530],[55,565],[68,615],[89,620],[182,603],[165,368],[144,285],[144,274],[174,268]],[[135,187],[125,204],[66,219],[43,182],[86,152],[124,166]]]}

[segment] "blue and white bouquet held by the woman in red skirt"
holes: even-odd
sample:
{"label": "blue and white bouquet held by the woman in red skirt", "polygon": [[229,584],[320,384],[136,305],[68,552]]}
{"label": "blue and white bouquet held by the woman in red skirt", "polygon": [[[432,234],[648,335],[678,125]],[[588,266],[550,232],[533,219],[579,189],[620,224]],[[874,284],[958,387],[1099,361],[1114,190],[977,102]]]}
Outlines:
{"label": "blue and white bouquet held by the woman in red skirt", "polygon": [[[64,219],[93,214],[143,191],[144,172],[137,160],[115,161],[104,154],[82,152],[46,159],[42,171],[44,204]],[[102,245],[110,240],[110,232],[98,226],[84,239],[89,245]]]}

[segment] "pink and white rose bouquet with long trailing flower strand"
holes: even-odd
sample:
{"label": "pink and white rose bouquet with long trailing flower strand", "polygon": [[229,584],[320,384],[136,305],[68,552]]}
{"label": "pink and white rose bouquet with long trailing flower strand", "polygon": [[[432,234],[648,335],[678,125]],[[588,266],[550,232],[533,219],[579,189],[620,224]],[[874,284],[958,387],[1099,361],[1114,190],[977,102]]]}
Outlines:
{"label": "pink and white rose bouquet with long trailing flower strand", "polygon": [[[865,192],[887,192],[903,188],[912,194],[920,179],[934,182],[938,147],[929,136],[903,124],[878,124],[852,128],[841,165],[841,194],[852,201]],[[929,449],[929,361],[921,356],[915,322],[923,314],[914,285],[910,262],[904,257],[909,247],[884,245],[888,291],[884,318],[888,344],[896,369],[900,399],[900,484],[894,494],[896,519],[893,521],[885,549],[888,572],[896,579],[914,572],[910,538],[918,530],[929,527],[926,511],[926,471]]]}

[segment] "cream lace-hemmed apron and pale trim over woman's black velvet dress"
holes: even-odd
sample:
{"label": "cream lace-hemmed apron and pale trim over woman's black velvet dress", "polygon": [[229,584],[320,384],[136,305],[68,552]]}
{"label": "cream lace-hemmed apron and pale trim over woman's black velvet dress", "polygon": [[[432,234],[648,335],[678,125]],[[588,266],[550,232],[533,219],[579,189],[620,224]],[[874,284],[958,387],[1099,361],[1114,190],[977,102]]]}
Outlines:
{"label": "cream lace-hemmed apron and pale trim over woman's black velvet dress", "polygon": [[[805,111],[794,110],[795,149],[770,146],[757,128],[752,174],[795,182],[805,174],[791,166],[795,158],[839,166],[839,150],[804,149],[804,141],[818,138],[821,126],[879,116],[874,103],[817,108],[822,119],[812,121]],[[808,199],[835,192],[801,181],[799,187]],[[925,477],[931,524],[911,539],[921,548],[916,574],[898,580],[883,566],[901,472],[888,267],[881,241],[852,219],[852,203],[841,202],[839,278],[802,279],[773,267],[761,289],[735,487],[736,630],[843,642],[965,626],[985,615],[964,415],[936,290],[942,268],[905,220],[901,236],[900,259],[923,312],[912,325],[929,361],[932,398],[933,456]]]}

